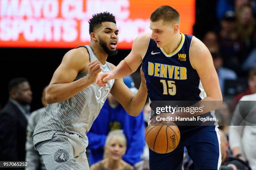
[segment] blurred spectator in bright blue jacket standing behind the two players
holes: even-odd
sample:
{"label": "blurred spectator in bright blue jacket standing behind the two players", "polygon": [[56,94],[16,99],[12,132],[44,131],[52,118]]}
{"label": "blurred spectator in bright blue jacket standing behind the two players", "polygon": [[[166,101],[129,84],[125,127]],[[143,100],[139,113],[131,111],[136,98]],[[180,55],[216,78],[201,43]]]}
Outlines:
{"label": "blurred spectator in bright blue jacket standing behind the two players", "polygon": [[[123,80],[133,93],[137,92],[131,76],[125,77]],[[123,156],[123,160],[131,165],[141,161],[141,155],[145,145],[143,112],[138,117],[130,116],[119,102],[109,94],[98,117],[87,133],[89,139],[88,149],[90,149],[90,164],[103,159],[103,147],[106,137],[110,131],[116,129],[123,129],[123,133],[127,139],[127,151]]]}

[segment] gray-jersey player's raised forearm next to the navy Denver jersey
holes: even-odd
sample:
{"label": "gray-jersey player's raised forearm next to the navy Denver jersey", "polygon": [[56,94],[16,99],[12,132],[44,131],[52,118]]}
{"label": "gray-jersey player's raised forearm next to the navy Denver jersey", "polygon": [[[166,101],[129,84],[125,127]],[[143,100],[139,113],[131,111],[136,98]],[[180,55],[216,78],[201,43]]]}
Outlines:
{"label": "gray-jersey player's raised forearm next to the navy Denver jersey", "polygon": [[143,109],[145,103],[146,103],[146,98],[147,98],[147,86],[145,82],[141,82],[141,86],[136,93],[135,96],[131,99],[129,103],[129,111],[128,114],[131,116],[138,116]]}

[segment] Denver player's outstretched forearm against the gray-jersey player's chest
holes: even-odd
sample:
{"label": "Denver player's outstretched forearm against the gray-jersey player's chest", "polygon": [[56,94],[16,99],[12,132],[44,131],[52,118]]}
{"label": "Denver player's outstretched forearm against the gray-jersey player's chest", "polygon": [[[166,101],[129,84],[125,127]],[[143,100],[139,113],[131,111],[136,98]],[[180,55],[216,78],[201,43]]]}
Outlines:
{"label": "Denver player's outstretched forearm against the gray-jersey player's chest", "polygon": [[125,60],[122,60],[111,72],[114,74],[114,79],[121,79],[123,77],[129,76],[134,71],[131,70]]}

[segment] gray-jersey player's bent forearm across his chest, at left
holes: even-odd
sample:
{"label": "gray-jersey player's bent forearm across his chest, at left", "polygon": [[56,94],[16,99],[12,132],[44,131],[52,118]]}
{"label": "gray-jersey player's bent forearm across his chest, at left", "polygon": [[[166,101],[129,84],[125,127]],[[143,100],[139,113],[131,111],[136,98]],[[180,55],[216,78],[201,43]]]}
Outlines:
{"label": "gray-jersey player's bent forearm across his chest, at left", "polygon": [[52,104],[70,99],[92,83],[87,76],[71,83],[50,84],[46,90],[46,102]]}

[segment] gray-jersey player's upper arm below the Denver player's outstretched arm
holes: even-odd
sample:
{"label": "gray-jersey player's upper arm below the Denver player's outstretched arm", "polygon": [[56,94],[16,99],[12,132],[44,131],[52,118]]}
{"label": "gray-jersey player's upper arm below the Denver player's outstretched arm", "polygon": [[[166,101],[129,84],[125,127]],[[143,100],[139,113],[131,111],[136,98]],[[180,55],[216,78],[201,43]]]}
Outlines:
{"label": "gray-jersey player's upper arm below the Denver player's outstretched arm", "polygon": [[123,106],[127,111],[128,104],[133,98],[133,93],[124,84],[123,79],[115,79],[115,83],[110,91],[110,93],[117,99],[117,101]]}

